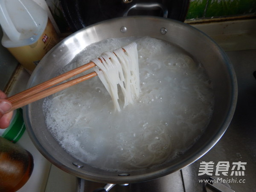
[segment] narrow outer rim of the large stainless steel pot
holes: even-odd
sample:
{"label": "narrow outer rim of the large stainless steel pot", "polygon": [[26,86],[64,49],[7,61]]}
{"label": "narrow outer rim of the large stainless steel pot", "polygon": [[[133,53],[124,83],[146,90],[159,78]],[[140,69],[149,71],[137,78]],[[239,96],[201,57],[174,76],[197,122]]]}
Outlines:
{"label": "narrow outer rim of the large stainless steel pot", "polygon": [[[227,113],[225,114],[225,118],[223,122],[221,123],[221,126],[218,128],[218,131],[215,132],[208,141],[204,143],[204,145],[201,145],[198,147],[196,151],[193,153],[189,154],[186,156],[185,159],[179,159],[180,161],[176,162],[172,166],[160,166],[161,169],[152,169],[151,172],[139,172],[139,174],[133,175],[134,172],[131,172],[129,176],[117,176],[117,177],[112,177],[108,176],[105,174],[99,174],[97,171],[95,173],[87,172],[86,170],[79,168],[79,167],[72,167],[68,165],[68,163],[60,163],[56,157],[53,157],[52,153],[49,153],[43,146],[41,141],[38,140],[37,135],[34,132],[35,128],[32,128],[31,124],[31,105],[29,104],[24,107],[23,113],[24,113],[24,121],[29,133],[29,137],[31,138],[32,142],[35,144],[36,148],[38,148],[38,151],[41,152],[41,154],[44,155],[51,163],[53,163],[55,166],[58,168],[64,170],[65,172],[68,172],[72,175],[76,175],[77,177],[84,178],[86,180],[92,180],[96,182],[101,182],[101,183],[137,183],[137,182],[142,182],[146,180],[152,180],[158,177],[162,177],[164,175],[168,175],[172,172],[175,172],[177,170],[182,169],[183,167],[188,166],[189,164],[195,162],[198,160],[200,157],[202,157],[204,154],[206,154],[217,142],[220,140],[224,132],[227,130],[231,119],[233,118],[234,111],[236,109],[236,101],[237,101],[237,81],[236,81],[236,74],[234,72],[234,69],[232,67],[232,64],[229,61],[229,58],[225,54],[225,52],[219,47],[211,38],[209,38],[208,35],[206,35],[204,32],[201,32],[200,30],[196,29],[193,26],[189,26],[186,23],[182,23],[180,21],[168,19],[168,18],[162,18],[162,17],[154,17],[154,16],[130,16],[130,17],[119,17],[119,18],[114,18],[111,20],[105,20],[99,23],[95,23],[93,25],[87,26],[84,29],[80,29],[79,31],[73,33],[72,35],[68,36],[65,38],[63,41],[61,41],[59,44],[57,44],[54,48],[52,48],[47,55],[41,60],[41,62],[38,64],[38,67],[36,67],[35,71],[32,73],[31,78],[29,79],[27,87],[31,87],[34,84],[34,81],[37,77],[37,74],[40,73],[40,71],[43,68],[44,62],[46,61],[46,58],[49,57],[49,55],[52,55],[54,52],[57,51],[57,49],[64,44],[65,41],[68,41],[69,39],[74,38],[75,36],[81,34],[82,32],[86,32],[88,30],[92,30],[93,28],[97,28],[98,26],[102,24],[110,24],[110,23],[118,23],[120,22],[120,25],[122,23],[131,21],[131,22],[136,22],[136,21],[143,21],[143,20],[150,20],[153,23],[159,22],[159,21],[164,21],[164,23],[171,23],[172,26],[175,26],[177,28],[179,27],[185,27],[185,29],[191,30],[193,33],[199,34],[199,36],[202,37],[202,39],[206,39],[209,44],[211,44],[214,49],[217,50],[218,56],[221,57],[221,60],[223,60],[223,63],[227,67],[228,71],[228,79],[230,83],[230,100],[229,104],[227,104],[229,107],[227,109]],[[49,140],[46,140],[47,142],[51,143]],[[79,162],[79,161],[78,161]],[[168,163],[166,164],[168,165]]]}

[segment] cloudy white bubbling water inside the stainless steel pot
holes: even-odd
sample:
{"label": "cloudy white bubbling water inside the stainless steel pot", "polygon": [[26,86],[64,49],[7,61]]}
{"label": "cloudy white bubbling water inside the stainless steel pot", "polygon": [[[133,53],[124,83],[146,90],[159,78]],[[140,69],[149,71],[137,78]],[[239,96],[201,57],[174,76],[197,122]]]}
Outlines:
{"label": "cloudy white bubbling water inside the stainless steel pot", "polygon": [[133,105],[114,111],[98,77],[56,93],[43,104],[49,131],[60,145],[100,169],[145,169],[175,158],[195,143],[212,113],[213,91],[204,68],[182,49],[154,38],[92,44],[59,73],[133,41],[141,89]]}

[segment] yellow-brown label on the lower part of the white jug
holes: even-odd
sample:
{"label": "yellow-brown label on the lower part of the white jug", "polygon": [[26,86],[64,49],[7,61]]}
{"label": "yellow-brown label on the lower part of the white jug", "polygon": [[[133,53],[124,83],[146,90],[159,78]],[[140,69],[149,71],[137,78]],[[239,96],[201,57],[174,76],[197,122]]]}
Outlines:
{"label": "yellow-brown label on the lower part of the white jug", "polygon": [[58,42],[58,35],[48,18],[47,26],[38,41],[31,45],[7,49],[29,73],[32,73],[44,55]]}

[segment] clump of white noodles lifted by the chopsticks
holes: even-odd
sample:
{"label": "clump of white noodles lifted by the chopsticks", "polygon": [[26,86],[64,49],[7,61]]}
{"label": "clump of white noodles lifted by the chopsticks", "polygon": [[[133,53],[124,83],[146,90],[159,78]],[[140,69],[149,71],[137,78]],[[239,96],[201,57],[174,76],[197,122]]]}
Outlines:
{"label": "clump of white noodles lifted by the chopsticks", "polygon": [[131,43],[113,52],[104,52],[99,59],[91,60],[96,64],[95,72],[110,94],[115,110],[120,111],[118,85],[124,96],[124,107],[132,104],[140,94],[137,44]]}

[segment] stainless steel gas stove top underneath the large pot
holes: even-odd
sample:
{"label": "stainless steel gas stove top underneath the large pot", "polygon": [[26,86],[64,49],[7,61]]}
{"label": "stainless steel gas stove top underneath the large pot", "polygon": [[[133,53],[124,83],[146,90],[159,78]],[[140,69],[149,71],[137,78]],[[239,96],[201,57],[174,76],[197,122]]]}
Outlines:
{"label": "stainless steel gas stove top underneath the large pot", "polygon": [[[170,175],[110,192],[244,192],[256,191],[256,20],[194,25],[212,37],[230,58],[238,81],[238,102],[224,136],[203,157]],[[23,68],[14,77],[9,95],[26,88],[29,74]],[[18,144],[32,153],[34,170],[19,192],[92,192],[105,186],[82,180],[58,169],[37,151],[25,132]]]}

